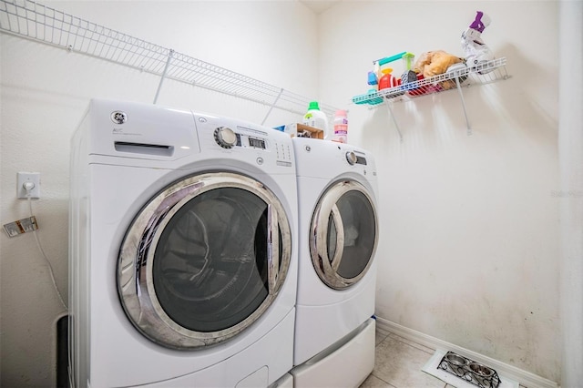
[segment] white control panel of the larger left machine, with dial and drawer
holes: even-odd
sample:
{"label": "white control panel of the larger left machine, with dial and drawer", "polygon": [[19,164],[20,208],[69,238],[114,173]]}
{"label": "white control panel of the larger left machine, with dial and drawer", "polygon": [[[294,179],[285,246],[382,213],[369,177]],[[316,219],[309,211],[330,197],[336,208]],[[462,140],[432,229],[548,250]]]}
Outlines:
{"label": "white control panel of the larger left machine, with dial and drawer", "polygon": [[[94,99],[85,126],[90,163],[182,168],[199,160],[295,174],[292,139],[257,124],[148,104]],[[218,131],[236,136],[220,144]]]}

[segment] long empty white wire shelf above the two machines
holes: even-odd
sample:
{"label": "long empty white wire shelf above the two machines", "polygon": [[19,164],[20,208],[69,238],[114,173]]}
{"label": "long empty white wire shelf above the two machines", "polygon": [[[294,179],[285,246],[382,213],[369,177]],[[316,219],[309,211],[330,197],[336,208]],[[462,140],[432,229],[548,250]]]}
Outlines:
{"label": "long empty white wire shelf above the two machines", "polygon": [[[267,116],[273,108],[303,115],[312,100],[29,0],[0,0],[0,31],[157,75],[159,88],[169,78],[251,100],[270,107]],[[328,116],[336,110],[320,108]]]}

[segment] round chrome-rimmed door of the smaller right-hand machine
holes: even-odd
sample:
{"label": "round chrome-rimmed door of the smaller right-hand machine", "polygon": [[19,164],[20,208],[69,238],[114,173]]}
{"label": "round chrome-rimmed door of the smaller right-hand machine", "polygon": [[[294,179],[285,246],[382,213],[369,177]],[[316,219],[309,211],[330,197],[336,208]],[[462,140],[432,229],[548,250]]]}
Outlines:
{"label": "round chrome-rimmed door of the smaller right-hand machine", "polygon": [[378,234],[373,200],[363,185],[334,183],[318,202],[310,230],[312,264],[325,284],[343,290],[363,278]]}

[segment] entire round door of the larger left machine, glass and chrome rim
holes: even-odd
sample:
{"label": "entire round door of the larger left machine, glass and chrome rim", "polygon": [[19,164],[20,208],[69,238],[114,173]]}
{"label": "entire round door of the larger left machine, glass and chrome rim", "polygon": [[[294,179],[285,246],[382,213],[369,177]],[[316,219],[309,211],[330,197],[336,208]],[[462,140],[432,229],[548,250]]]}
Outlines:
{"label": "entire round door of the larger left machine, glass and chrome rim", "polygon": [[202,174],[162,191],[122,243],[118,291],[150,340],[176,349],[223,342],[256,321],[290,264],[290,227],[260,182]]}

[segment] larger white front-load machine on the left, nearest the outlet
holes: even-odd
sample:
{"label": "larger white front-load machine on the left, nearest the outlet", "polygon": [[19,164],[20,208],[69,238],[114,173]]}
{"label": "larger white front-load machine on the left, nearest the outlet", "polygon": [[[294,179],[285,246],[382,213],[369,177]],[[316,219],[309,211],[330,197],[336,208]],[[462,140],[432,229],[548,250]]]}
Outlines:
{"label": "larger white front-load machine on the left, nearest the outlet", "polygon": [[292,369],[288,135],[92,100],[72,140],[70,203],[73,386],[261,387]]}

